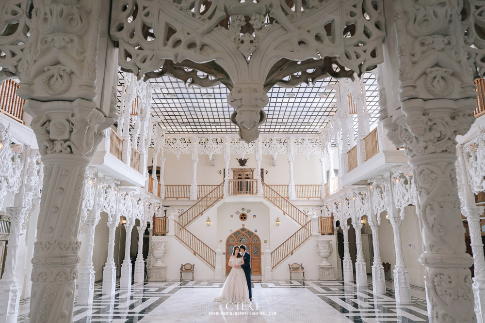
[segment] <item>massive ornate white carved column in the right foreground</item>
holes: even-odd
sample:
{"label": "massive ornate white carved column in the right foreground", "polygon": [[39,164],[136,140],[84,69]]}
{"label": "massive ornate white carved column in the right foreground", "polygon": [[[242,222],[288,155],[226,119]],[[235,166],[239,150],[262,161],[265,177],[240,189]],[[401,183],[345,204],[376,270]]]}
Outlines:
{"label": "massive ornate white carved column in the right foreground", "polygon": [[[473,260],[465,252],[460,229],[454,163],[455,137],[465,135],[475,121],[473,78],[482,67],[470,59],[476,54],[470,45],[478,35],[472,31],[471,36],[467,26],[477,22],[465,19],[476,17],[480,9],[456,1],[394,5],[397,42],[390,50],[397,53],[399,64],[389,66],[399,76],[401,109],[388,105],[380,119],[394,145],[404,146],[413,169],[428,316],[430,322],[475,322],[469,271]],[[422,24],[431,21],[427,19],[433,28]]]}

